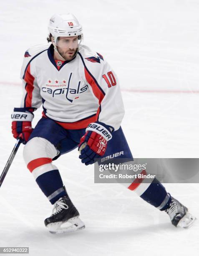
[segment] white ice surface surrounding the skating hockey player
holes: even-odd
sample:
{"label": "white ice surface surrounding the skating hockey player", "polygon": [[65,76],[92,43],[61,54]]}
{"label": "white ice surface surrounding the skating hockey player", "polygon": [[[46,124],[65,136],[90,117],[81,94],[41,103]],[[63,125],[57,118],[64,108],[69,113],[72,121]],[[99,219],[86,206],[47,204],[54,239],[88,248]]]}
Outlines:
{"label": "white ice surface surrounding the skating hockey player", "polygon": [[[7,0],[0,7],[0,172],[15,143],[10,113],[20,104],[24,52],[45,42],[53,13],[68,11],[83,25],[84,43],[118,74],[134,157],[199,158],[199,0]],[[86,229],[51,235],[43,220],[52,206],[22,151],[0,188],[0,246],[28,246],[31,256],[199,255],[198,222],[175,228],[123,186],[94,184],[94,166],[81,164],[77,150],[55,164]],[[199,218],[199,184],[165,187]]]}

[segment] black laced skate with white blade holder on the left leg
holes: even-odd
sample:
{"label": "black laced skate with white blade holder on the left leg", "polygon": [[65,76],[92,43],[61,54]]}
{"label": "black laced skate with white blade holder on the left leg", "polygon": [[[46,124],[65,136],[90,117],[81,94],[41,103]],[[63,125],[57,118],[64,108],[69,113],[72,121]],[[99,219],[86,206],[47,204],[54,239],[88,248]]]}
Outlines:
{"label": "black laced skate with white blade holder on the left leg", "polygon": [[68,195],[60,197],[55,202],[53,214],[44,220],[48,231],[53,234],[68,233],[85,228],[84,223],[79,218],[79,212],[71,202]]}

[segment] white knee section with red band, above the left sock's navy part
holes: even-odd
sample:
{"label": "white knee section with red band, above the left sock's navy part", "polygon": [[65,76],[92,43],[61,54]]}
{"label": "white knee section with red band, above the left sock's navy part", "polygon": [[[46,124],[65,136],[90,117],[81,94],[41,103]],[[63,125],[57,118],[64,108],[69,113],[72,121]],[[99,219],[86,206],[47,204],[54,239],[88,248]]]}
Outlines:
{"label": "white knee section with red band, above the left sock's navy part", "polygon": [[42,173],[57,169],[52,164],[52,159],[57,155],[57,149],[45,138],[34,137],[23,150],[23,158],[30,172],[33,172],[35,179]]}

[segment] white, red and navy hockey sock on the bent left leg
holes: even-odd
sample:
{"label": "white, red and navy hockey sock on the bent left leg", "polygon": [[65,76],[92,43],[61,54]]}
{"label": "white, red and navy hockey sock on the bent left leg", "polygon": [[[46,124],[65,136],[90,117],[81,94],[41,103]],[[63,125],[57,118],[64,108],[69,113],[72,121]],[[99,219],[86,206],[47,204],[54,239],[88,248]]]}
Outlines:
{"label": "white, red and navy hockey sock on the bent left leg", "polygon": [[52,159],[56,155],[55,146],[40,137],[34,137],[28,141],[23,151],[27,168],[51,204],[66,195],[58,168],[52,164]]}

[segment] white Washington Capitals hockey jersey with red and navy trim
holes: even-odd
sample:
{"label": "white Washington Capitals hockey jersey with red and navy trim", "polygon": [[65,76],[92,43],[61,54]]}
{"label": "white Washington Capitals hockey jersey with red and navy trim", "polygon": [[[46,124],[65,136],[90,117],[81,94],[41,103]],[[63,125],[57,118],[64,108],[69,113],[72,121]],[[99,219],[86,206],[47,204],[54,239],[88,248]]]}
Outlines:
{"label": "white Washington Capitals hockey jersey with red and navy trim", "polygon": [[117,130],[124,115],[119,82],[101,54],[80,46],[71,61],[53,59],[53,45],[34,46],[25,52],[20,107],[35,110],[65,129],[86,128],[99,121]]}

